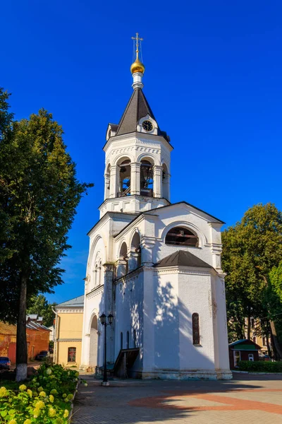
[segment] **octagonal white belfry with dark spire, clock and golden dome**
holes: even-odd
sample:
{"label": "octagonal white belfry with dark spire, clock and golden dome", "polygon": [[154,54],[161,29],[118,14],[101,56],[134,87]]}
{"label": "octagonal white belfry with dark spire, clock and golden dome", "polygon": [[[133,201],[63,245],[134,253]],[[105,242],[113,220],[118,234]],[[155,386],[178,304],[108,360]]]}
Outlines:
{"label": "octagonal white belfry with dark spire, clock and golden dome", "polygon": [[161,131],[142,91],[145,66],[139,59],[142,38],[133,37],[136,59],[130,66],[133,94],[118,124],[106,131],[104,202],[107,211],[139,213],[170,204],[170,139]]}

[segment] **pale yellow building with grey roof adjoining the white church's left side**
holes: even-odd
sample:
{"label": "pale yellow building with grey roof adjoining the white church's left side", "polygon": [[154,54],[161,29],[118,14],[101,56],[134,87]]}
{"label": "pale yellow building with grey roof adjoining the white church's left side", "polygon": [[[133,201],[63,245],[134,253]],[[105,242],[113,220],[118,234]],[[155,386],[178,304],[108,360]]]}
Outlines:
{"label": "pale yellow building with grey roof adjoining the white church's left side", "polygon": [[54,363],[79,367],[81,363],[84,296],[56,305]]}

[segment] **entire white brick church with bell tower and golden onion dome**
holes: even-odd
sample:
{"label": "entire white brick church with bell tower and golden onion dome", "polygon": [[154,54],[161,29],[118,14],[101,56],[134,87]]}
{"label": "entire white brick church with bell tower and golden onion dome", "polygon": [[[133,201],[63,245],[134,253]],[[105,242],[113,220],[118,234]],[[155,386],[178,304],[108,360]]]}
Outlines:
{"label": "entire white brick church with bell tower and golden onion dome", "polygon": [[135,40],[133,94],[106,131],[104,202],[88,233],[82,366],[103,367],[104,312],[114,315],[106,360],[116,375],[228,379],[223,222],[170,203],[173,148],[142,91]]}

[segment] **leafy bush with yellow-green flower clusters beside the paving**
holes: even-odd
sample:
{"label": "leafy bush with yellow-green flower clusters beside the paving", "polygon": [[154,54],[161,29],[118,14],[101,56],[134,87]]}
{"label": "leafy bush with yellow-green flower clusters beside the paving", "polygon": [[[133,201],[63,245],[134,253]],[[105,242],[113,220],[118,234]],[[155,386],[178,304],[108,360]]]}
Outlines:
{"label": "leafy bush with yellow-green flower clusters beside the paving", "polygon": [[42,364],[36,377],[18,391],[0,388],[0,423],[68,423],[77,382],[78,372]]}

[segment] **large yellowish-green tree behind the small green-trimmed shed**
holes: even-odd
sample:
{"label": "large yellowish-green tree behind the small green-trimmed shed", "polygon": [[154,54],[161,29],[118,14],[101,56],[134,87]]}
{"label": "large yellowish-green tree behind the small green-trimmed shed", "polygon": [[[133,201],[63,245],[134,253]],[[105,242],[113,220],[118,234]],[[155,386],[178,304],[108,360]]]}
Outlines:
{"label": "large yellowish-green tree behind the small green-trimmed shed", "polygon": [[249,318],[248,336],[251,316],[269,317],[265,295],[269,273],[282,259],[281,211],[274,204],[253,206],[240,222],[223,232],[222,242],[227,308],[232,305],[228,311],[232,315],[228,317],[229,334],[242,338],[245,317]]}

